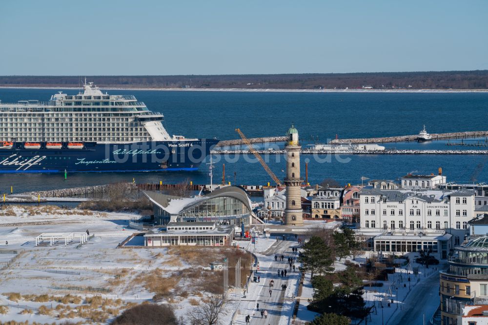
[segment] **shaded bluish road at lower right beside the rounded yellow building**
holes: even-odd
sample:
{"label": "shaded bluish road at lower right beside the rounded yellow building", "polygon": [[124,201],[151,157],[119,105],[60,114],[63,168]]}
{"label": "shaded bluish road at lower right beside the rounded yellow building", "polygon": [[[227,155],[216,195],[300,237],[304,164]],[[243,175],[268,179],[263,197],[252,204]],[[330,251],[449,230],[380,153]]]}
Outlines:
{"label": "shaded bluish road at lower right beside the rounded yellow building", "polygon": [[[436,266],[437,270],[445,269],[444,265]],[[428,324],[439,304],[439,271],[437,271],[426,281],[415,286],[405,300],[402,310],[395,313],[388,325],[423,325],[424,314]]]}

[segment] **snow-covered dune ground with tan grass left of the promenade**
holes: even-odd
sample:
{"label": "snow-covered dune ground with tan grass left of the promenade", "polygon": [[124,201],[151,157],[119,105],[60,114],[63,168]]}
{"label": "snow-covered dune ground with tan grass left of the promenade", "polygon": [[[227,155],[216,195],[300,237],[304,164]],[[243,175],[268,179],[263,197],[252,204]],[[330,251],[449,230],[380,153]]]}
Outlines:
{"label": "snow-covered dune ground with tan grass left of the promenade", "polygon": [[[152,301],[155,292],[146,287],[153,273],[172,277],[173,272],[181,270],[208,269],[208,265],[185,263],[178,256],[171,255],[167,248],[117,248],[119,243],[137,232],[125,228],[134,216],[130,213],[101,213],[43,206],[9,205],[1,209],[0,250],[6,254],[0,254],[0,268],[10,264],[0,270],[0,305],[9,306],[7,314],[0,314],[0,323],[14,320],[51,324],[66,320],[57,317],[58,310],[53,311],[52,315],[39,314],[37,308],[41,305],[56,309],[59,303],[51,298],[44,303],[15,301],[9,300],[8,293],[20,293],[23,296],[48,294],[56,297],[71,294],[83,299],[100,295],[103,299],[121,299],[122,303],[117,305],[118,313],[129,307],[130,303]],[[49,242],[35,245],[35,237],[41,233],[86,230],[95,237],[79,248],[78,240],[66,246],[64,241],[53,246]],[[265,250],[269,244],[269,241],[260,240],[257,247]],[[18,251],[19,254],[12,251]],[[146,276],[149,280],[144,280]],[[177,287],[183,285],[183,291],[194,284],[191,279],[181,279],[182,283],[177,284]],[[185,315],[194,300],[201,301],[201,296],[170,294],[163,298],[162,303],[170,303],[179,317]],[[231,311],[231,306],[227,308]],[[32,313],[21,313],[23,310],[31,310]],[[102,309],[97,311],[102,312]],[[107,322],[113,317],[111,315]],[[231,317],[229,312],[221,320],[228,324]],[[69,320],[87,321],[80,317]]]}

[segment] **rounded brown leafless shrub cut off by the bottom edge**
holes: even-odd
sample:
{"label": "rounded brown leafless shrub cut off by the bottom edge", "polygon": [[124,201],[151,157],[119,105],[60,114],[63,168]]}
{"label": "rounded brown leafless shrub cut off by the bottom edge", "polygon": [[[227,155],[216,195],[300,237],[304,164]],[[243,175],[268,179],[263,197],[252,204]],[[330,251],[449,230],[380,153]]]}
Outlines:
{"label": "rounded brown leafless shrub cut off by the bottom edge", "polygon": [[137,305],[125,310],[112,325],[177,325],[176,316],[168,305]]}

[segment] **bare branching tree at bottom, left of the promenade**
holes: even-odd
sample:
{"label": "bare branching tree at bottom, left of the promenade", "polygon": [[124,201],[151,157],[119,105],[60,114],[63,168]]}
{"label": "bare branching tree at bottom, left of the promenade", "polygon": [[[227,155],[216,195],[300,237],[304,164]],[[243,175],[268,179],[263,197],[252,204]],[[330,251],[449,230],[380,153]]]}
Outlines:
{"label": "bare branching tree at bottom, left of the promenade", "polygon": [[191,325],[217,325],[219,315],[226,313],[225,303],[226,299],[221,295],[209,295],[200,305],[188,310],[186,316]]}

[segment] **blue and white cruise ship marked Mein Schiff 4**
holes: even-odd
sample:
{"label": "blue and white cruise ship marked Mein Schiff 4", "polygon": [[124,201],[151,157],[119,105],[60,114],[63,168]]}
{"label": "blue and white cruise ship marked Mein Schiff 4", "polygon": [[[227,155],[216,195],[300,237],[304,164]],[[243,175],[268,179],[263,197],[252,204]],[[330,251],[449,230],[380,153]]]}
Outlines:
{"label": "blue and white cruise ship marked Mein Schiff 4", "polygon": [[215,139],[170,136],[131,95],[84,83],[78,95],[0,102],[0,173],[196,170]]}

